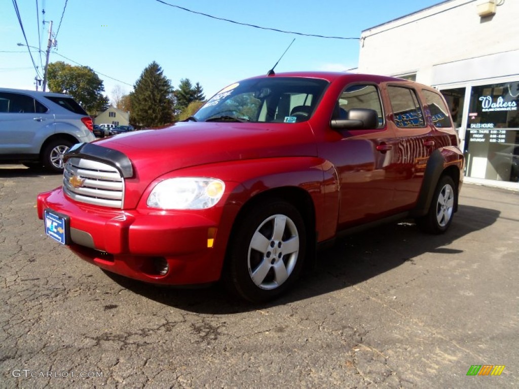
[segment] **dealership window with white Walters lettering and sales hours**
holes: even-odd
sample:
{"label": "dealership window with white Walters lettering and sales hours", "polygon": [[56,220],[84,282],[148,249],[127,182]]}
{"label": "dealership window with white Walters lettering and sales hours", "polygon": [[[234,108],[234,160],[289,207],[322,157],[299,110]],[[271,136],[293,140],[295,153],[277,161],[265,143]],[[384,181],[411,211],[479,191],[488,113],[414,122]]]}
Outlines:
{"label": "dealership window with white Walters lettering and sales hours", "polygon": [[519,81],[472,87],[466,175],[519,182]]}

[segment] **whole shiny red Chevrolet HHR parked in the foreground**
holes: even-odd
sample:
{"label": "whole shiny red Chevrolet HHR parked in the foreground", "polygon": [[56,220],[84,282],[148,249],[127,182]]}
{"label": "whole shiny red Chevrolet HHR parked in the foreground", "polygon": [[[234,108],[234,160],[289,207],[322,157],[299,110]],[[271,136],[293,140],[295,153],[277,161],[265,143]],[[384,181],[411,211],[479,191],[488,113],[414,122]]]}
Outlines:
{"label": "whole shiny red Chevrolet HHR parked in the foreground", "polygon": [[250,301],[297,279],[316,248],[399,218],[442,233],[463,155],[435,89],[348,73],[254,77],[185,122],[77,144],[38,196],[47,235],[146,282],[222,279]]}

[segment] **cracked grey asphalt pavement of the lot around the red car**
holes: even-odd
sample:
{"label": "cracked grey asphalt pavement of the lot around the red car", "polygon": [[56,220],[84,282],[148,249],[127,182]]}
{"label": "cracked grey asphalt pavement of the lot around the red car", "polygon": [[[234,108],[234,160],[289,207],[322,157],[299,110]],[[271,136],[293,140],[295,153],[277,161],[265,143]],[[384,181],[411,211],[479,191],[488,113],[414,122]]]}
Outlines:
{"label": "cracked grey asphalt pavement of the lot around the red car", "polygon": [[0,165],[2,387],[519,387],[517,191],[464,184],[447,233],[352,235],[250,305],[80,260],[36,215],[60,181]]}

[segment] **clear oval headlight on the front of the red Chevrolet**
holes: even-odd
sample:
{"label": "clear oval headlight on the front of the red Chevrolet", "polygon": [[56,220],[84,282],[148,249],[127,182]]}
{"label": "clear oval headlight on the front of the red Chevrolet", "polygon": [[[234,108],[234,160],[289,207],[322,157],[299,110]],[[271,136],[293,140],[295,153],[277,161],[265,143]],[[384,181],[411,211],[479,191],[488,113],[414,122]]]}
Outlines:
{"label": "clear oval headlight on the front of the red Chevrolet", "polygon": [[223,181],[204,177],[169,178],[149,193],[146,205],[164,210],[203,210],[222,198]]}

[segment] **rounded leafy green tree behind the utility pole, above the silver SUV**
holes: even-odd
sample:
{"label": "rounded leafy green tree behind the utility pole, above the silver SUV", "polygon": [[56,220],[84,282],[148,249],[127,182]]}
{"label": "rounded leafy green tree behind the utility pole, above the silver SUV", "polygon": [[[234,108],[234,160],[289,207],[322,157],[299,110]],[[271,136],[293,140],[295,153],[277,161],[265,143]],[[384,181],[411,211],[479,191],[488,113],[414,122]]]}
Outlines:
{"label": "rounded leafy green tree behind the utility pole, above the silver SUV", "polygon": [[88,66],[53,62],[49,64],[47,79],[51,92],[70,94],[91,115],[108,107],[103,81]]}

